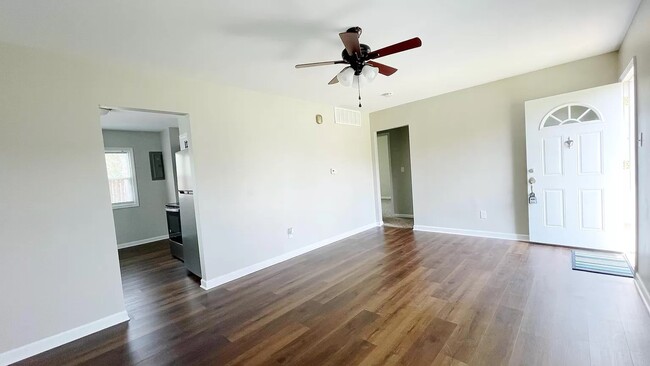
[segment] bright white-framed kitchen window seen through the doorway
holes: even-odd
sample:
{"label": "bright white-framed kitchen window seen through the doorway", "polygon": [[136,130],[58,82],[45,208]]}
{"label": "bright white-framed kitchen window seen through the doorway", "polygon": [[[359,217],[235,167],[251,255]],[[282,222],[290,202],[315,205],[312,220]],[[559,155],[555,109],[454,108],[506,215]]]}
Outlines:
{"label": "bright white-framed kitchen window seen through the doorway", "polygon": [[106,149],[104,157],[113,209],[139,206],[133,149],[129,147]]}

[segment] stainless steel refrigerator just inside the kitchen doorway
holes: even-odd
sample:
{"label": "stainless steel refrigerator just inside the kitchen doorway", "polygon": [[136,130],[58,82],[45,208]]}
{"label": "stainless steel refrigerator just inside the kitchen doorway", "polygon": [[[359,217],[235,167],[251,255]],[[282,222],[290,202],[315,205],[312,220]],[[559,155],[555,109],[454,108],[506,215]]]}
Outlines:
{"label": "stainless steel refrigerator just inside the kitchen doorway", "polygon": [[199,238],[194,215],[194,176],[190,149],[176,153],[176,176],[178,180],[178,204],[181,210],[181,233],[185,267],[201,277]]}

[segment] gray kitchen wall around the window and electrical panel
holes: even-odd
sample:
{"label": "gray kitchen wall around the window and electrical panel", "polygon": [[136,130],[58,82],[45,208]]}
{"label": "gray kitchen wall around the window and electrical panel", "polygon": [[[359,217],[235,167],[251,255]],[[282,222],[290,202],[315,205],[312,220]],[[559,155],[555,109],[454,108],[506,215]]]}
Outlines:
{"label": "gray kitchen wall around the window and electrical panel", "polygon": [[[160,132],[103,130],[104,147],[133,148],[140,206],[113,209],[117,243],[167,235],[165,180],[151,180],[149,152],[163,151]],[[165,177],[170,172],[165,171]],[[106,187],[108,189],[108,186]]]}

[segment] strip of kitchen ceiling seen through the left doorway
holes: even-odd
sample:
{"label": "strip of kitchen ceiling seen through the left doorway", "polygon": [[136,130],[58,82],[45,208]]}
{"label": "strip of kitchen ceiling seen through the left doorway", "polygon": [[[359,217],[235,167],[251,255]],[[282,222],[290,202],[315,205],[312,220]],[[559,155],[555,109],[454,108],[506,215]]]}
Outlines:
{"label": "strip of kitchen ceiling seen through the left doorway", "polygon": [[114,109],[100,116],[103,130],[122,131],[162,131],[168,127],[178,127],[174,115],[155,112],[140,112]]}

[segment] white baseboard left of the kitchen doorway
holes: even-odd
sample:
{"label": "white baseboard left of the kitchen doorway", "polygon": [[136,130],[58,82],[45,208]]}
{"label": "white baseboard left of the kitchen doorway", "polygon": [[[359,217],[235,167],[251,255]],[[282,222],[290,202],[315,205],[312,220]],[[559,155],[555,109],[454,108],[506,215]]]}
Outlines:
{"label": "white baseboard left of the kitchen doorway", "polygon": [[80,327],[55,334],[39,341],[12,349],[0,354],[0,365],[9,365],[39,353],[56,348],[63,344],[72,342],[87,335],[99,332],[100,330],[129,321],[126,311],[121,311],[105,318],[95,320]]}

